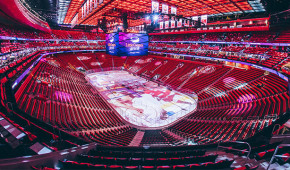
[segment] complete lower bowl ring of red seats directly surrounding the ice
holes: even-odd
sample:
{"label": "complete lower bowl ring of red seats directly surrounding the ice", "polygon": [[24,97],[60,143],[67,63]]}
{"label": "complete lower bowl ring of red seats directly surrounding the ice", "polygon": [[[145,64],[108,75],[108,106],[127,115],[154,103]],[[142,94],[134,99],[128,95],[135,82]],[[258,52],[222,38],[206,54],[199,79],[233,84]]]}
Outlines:
{"label": "complete lower bowl ring of red seats directly surrounding the ice", "polygon": [[[18,89],[16,101],[32,117],[87,141],[127,146],[137,130],[122,122],[86,84],[82,73],[122,66],[167,87],[198,95],[196,112],[168,128],[196,143],[251,137],[284,114],[290,102],[287,82],[256,68],[231,68],[218,62],[153,55],[120,58],[104,53],[46,57]],[[176,136],[164,131],[146,131],[141,145],[172,145],[177,141]]]}

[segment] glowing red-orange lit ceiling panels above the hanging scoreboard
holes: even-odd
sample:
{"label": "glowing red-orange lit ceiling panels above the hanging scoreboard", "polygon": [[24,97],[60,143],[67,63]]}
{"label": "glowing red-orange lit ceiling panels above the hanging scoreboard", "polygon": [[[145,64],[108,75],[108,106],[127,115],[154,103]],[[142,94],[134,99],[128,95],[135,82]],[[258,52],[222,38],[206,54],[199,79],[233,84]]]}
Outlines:
{"label": "glowing red-orange lit ceiling panels above the hanging scoreboard", "polygon": [[[59,0],[58,23],[70,24],[87,0]],[[260,0],[158,0],[177,7],[177,15],[184,17],[200,15],[225,15],[265,11]],[[151,12],[151,0],[104,0],[85,18],[79,17],[78,24],[97,25],[98,19],[111,16],[115,9],[129,12]],[[161,5],[160,5],[161,10]],[[170,9],[169,9],[170,10]],[[116,12],[115,12],[116,13]],[[133,23],[129,21],[129,23]],[[130,24],[130,25],[131,25]],[[135,21],[138,24],[138,21]],[[134,24],[134,25],[135,25]]]}

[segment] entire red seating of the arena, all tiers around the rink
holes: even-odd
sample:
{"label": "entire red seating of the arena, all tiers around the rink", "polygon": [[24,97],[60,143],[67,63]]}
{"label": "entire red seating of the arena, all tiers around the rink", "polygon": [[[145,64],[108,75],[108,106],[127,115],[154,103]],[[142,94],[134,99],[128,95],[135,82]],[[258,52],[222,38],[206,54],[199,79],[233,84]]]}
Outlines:
{"label": "entire red seating of the arena, all tiers around the rink", "polygon": [[[243,61],[282,71],[281,67],[290,62],[289,48],[257,44],[289,43],[287,30],[150,36],[149,55],[132,57],[95,52],[105,49],[103,33],[42,32],[0,25],[0,36],[8,37],[0,42],[0,158],[29,158],[40,154],[36,151],[40,148],[55,152],[95,142],[94,150],[75,154],[76,158],[70,155],[70,160],[61,159],[58,168],[234,169],[232,164],[237,159],[220,159],[216,152],[204,150],[208,147],[212,151],[215,146],[207,144],[249,140],[250,159],[260,162],[269,161],[280,144],[255,143],[251,137],[285,117],[290,106],[288,82],[254,66],[196,56]],[[37,61],[43,53],[59,49],[66,52]],[[83,49],[90,51],[68,52]],[[184,55],[179,59],[176,54]],[[32,67],[35,61],[37,64]],[[24,79],[14,84],[30,67]],[[119,69],[169,90],[197,96],[196,110],[162,130],[135,128],[85,78],[90,72]],[[136,134],[143,135],[143,131],[141,140]],[[142,147],[127,147],[133,139]],[[78,149],[72,152],[79,152]],[[225,150],[246,155],[241,145]],[[289,147],[280,147],[276,154],[282,155],[273,159],[277,165],[290,163]],[[258,168],[251,166],[236,169]]]}

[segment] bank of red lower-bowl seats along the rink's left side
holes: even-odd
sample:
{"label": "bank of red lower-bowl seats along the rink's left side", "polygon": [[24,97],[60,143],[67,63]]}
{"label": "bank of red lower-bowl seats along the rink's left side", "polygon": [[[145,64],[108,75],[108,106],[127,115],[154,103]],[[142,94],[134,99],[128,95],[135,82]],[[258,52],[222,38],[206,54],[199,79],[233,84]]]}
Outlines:
{"label": "bank of red lower-bowl seats along the rink's left side", "polygon": [[77,71],[41,62],[17,91],[16,101],[31,116],[68,131],[122,124],[85,82]]}

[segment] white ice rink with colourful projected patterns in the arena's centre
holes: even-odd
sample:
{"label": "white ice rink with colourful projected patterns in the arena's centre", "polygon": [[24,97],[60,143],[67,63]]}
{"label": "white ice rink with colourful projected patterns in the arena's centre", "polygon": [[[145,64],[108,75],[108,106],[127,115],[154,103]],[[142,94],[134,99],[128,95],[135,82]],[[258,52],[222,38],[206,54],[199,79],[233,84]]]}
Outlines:
{"label": "white ice rink with colourful projected patterns in the arena's centre", "polygon": [[171,91],[126,71],[96,72],[86,77],[126,121],[137,126],[165,126],[197,106],[196,94]]}

